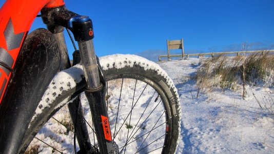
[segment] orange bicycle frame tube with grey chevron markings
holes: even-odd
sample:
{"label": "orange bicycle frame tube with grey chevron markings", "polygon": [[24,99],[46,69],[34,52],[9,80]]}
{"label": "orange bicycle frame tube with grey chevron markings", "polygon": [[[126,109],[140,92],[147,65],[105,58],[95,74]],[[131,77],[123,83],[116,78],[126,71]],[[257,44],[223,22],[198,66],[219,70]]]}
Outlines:
{"label": "orange bicycle frame tube with grey chevron markings", "polygon": [[0,104],[34,18],[42,8],[62,5],[63,0],[7,0],[0,9]]}

